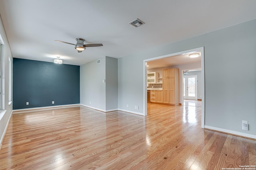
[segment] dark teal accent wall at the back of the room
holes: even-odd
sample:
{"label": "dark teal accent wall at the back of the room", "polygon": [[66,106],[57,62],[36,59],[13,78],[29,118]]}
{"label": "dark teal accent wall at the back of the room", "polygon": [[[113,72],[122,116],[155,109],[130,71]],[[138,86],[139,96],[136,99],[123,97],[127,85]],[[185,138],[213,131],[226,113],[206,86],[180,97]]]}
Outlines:
{"label": "dark teal accent wall at the back of the room", "polygon": [[76,65],[14,58],[13,109],[80,104],[79,74]]}

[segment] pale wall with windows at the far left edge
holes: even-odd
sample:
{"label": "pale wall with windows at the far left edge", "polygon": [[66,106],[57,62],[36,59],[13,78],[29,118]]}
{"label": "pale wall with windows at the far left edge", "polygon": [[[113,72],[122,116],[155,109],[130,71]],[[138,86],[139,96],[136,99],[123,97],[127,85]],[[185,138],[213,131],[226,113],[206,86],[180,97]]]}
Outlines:
{"label": "pale wall with windows at the far left edge", "polygon": [[[0,111],[0,146],[2,143],[2,139],[4,137],[4,131],[6,125],[8,123],[9,117],[12,113],[12,103],[9,104],[9,57],[12,62],[12,52],[10,50],[10,46],[8,43],[8,39],[6,37],[6,33],[4,30],[4,25],[2,23],[2,19],[0,18],[0,35],[2,40],[4,41],[4,45],[1,45],[1,74],[2,74],[2,82],[1,82],[1,93],[2,93],[2,110]],[[12,68],[11,68],[12,70]],[[12,96],[12,77],[11,77],[11,96]],[[12,99],[11,99],[12,100]]]}

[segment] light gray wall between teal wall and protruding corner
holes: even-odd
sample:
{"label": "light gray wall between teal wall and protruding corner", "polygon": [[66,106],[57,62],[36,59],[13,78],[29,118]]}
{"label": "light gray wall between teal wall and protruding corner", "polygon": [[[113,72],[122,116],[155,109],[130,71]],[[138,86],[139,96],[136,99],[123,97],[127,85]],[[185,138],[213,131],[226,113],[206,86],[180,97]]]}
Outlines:
{"label": "light gray wall between teal wall and protruding corner", "polygon": [[[106,110],[106,57],[80,66],[80,104]],[[90,103],[91,102],[91,103]]]}

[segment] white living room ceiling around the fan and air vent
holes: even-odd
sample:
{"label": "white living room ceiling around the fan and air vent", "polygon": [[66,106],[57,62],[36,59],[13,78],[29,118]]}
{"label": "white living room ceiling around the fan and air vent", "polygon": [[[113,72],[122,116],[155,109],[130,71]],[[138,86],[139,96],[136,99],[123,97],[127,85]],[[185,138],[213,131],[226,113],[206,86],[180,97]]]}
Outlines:
{"label": "white living room ceiling around the fan and air vent", "polygon": [[[0,0],[13,57],[82,65],[256,19],[256,0]],[[128,23],[136,18],[140,27]],[[76,43],[102,43],[77,53]]]}

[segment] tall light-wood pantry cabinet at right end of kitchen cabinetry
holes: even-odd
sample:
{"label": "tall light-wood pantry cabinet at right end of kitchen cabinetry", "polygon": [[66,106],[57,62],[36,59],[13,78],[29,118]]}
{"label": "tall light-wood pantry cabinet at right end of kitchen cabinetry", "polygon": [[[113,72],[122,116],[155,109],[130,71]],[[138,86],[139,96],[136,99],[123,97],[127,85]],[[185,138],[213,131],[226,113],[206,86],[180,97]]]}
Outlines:
{"label": "tall light-wood pantry cabinet at right end of kitchen cabinetry", "polygon": [[163,103],[177,106],[180,104],[179,69],[163,70]]}

